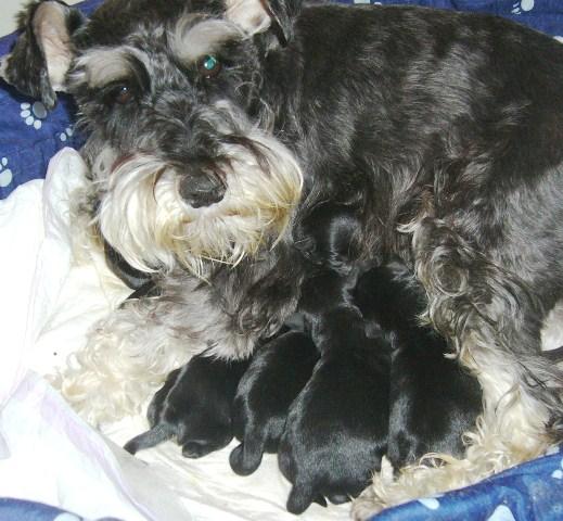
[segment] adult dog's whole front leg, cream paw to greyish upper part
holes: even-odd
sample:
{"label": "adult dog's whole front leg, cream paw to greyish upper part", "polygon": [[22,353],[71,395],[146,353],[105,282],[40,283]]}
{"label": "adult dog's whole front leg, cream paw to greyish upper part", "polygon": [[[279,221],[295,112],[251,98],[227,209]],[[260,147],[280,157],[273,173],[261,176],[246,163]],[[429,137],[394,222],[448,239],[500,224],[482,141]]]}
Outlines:
{"label": "adult dog's whole front leg, cream paw to greyish upper part", "polygon": [[128,300],[98,322],[53,381],[90,423],[144,410],[166,376],[192,355],[252,352],[255,336],[233,330],[208,284],[182,274],[156,281],[156,289],[161,296]]}

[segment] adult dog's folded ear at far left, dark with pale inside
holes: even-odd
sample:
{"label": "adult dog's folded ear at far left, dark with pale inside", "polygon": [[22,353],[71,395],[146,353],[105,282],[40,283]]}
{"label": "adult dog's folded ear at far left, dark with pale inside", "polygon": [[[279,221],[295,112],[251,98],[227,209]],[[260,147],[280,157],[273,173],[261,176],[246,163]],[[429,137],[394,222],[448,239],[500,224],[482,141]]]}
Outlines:
{"label": "adult dog's folded ear at far left, dark with pale inside", "polygon": [[0,76],[22,93],[40,99],[47,109],[64,91],[73,60],[73,33],[85,17],[59,0],[30,3],[20,14],[18,36],[12,52],[0,63]]}

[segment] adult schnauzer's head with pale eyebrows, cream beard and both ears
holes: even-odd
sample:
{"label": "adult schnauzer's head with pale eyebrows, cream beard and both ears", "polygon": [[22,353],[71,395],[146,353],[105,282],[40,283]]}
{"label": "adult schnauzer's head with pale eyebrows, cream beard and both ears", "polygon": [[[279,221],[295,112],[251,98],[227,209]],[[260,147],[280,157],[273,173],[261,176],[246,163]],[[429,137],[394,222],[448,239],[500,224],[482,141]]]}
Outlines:
{"label": "adult schnauzer's head with pale eyebrows, cream beard and both ears", "polygon": [[[263,63],[291,38],[296,4],[107,0],[80,25],[35,3],[4,77],[72,93],[89,135],[104,239],[143,271],[235,264],[278,240],[302,173],[270,131]],[[75,27],[76,25],[76,27]],[[54,35],[54,36],[53,36]]]}

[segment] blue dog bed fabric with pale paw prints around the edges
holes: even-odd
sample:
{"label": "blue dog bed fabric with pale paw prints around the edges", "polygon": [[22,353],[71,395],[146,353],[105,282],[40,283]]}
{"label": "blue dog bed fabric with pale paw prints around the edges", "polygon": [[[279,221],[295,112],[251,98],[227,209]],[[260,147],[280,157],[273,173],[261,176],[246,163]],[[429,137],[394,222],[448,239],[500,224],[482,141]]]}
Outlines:
{"label": "blue dog bed fabric with pale paw prints around the edges", "polygon": [[[479,11],[515,20],[563,41],[563,0],[342,0],[343,3],[402,3]],[[93,10],[101,0],[86,0],[81,9]],[[14,35],[0,39],[0,55],[9,52]],[[562,87],[563,88],[563,87]],[[40,102],[15,93],[0,82],[0,199],[17,186],[44,177],[47,163],[63,147],[79,148],[74,131],[74,105],[62,97],[47,113]],[[535,461],[504,471],[476,485],[411,501],[373,518],[378,521],[563,520],[563,456],[558,449]],[[0,498],[2,521],[80,520],[53,507],[18,499]],[[59,518],[61,516],[61,518]]]}

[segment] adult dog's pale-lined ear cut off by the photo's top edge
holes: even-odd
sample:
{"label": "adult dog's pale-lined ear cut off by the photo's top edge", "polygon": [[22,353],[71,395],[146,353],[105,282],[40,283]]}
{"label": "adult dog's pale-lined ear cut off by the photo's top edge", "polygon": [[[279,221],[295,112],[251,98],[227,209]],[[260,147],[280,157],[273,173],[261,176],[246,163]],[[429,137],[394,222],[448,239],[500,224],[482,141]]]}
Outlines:
{"label": "adult dog's pale-lined ear cut off by the photo's top edge", "polygon": [[293,37],[293,21],[302,0],[226,0],[227,18],[249,35],[269,31],[285,46]]}

